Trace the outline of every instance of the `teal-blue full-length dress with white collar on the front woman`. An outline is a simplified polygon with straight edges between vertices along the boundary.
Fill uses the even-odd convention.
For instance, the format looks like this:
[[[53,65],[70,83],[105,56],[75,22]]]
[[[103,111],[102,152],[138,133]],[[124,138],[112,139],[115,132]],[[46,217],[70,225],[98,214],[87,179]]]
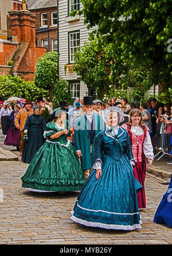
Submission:
[[[118,135],[101,131],[95,139],[95,162],[102,166],[100,179],[94,169],[85,181],[71,212],[71,220],[90,227],[135,230],[142,221],[137,192],[142,185],[133,174],[133,155],[128,133],[119,128]]]

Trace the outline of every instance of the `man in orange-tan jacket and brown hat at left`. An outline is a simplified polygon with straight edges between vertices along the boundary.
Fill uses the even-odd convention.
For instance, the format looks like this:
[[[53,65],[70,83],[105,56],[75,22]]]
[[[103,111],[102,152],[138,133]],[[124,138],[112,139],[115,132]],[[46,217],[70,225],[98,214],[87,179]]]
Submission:
[[[30,114],[33,114],[32,101],[26,100],[24,103],[24,108],[19,110],[14,120],[15,126],[20,131],[20,155],[22,155],[22,152],[25,146],[25,142],[23,140],[25,135],[24,126],[25,126],[26,119],[28,118],[28,116],[30,116]]]

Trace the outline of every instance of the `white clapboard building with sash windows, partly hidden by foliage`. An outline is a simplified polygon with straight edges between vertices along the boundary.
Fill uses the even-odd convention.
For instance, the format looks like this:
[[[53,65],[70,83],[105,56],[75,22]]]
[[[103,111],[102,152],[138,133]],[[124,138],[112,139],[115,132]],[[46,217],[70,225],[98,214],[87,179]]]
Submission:
[[[87,86],[73,71],[73,54],[79,45],[82,47],[88,41],[88,33],[93,29],[88,30],[84,25],[83,15],[69,16],[72,10],[81,10],[82,7],[79,0],[58,0],[59,75],[68,80],[73,98],[83,98],[88,93]]]

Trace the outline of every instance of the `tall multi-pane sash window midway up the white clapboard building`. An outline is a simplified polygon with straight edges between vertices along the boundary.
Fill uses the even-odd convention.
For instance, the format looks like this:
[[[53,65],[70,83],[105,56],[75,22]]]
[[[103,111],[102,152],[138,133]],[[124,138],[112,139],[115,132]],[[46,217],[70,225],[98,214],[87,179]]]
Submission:
[[[74,62],[74,55],[77,53],[80,44],[80,32],[69,32],[69,63]]]

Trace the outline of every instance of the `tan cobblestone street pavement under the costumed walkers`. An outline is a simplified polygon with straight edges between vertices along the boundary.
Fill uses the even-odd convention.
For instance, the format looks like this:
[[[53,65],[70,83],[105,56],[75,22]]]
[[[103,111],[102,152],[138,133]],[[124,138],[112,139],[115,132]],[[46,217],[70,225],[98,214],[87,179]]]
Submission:
[[[21,188],[27,167],[18,161],[0,162],[0,244],[172,244],[171,228],[153,222],[169,180],[147,173],[142,229],[103,230],[70,220],[78,192],[35,193]]]

